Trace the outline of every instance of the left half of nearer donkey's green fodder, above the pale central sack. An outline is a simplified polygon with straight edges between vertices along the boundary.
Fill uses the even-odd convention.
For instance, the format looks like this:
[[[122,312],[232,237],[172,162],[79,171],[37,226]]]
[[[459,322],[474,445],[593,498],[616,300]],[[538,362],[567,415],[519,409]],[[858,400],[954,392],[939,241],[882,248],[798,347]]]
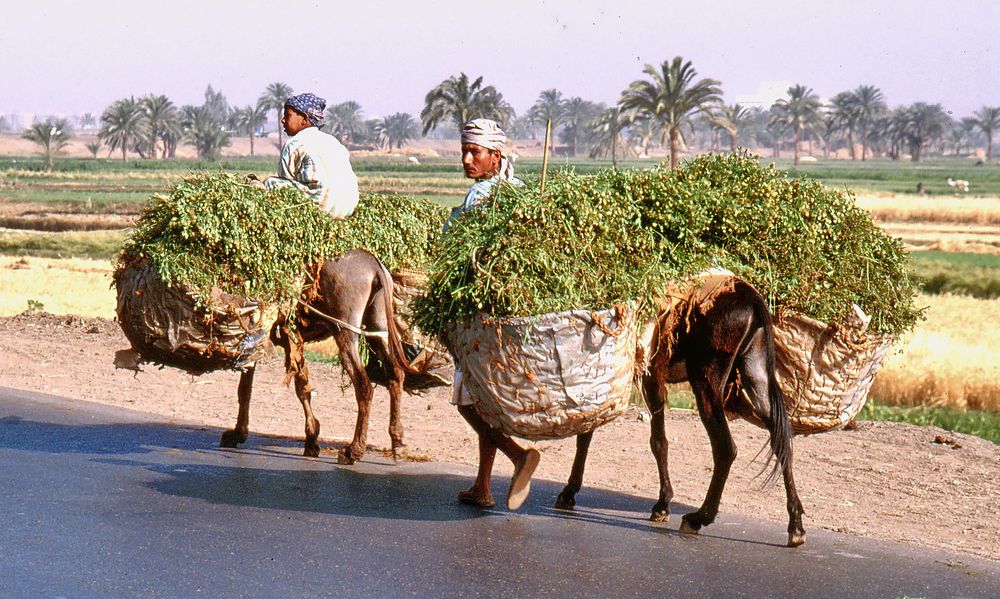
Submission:
[[[417,326],[440,336],[484,311],[530,316],[643,303],[663,281],[708,264],[662,260],[689,256],[691,248],[643,227],[640,206],[629,200],[624,183],[614,171],[562,171],[544,194],[537,186],[499,185],[486,207],[452,222],[427,293],[414,305]]]

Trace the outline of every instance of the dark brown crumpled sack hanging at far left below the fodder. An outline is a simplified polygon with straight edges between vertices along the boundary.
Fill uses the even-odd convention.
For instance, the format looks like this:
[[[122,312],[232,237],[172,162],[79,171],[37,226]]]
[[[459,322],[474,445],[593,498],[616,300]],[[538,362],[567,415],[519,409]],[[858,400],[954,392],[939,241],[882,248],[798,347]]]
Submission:
[[[273,353],[268,331],[277,310],[216,290],[212,308],[195,308],[183,287],[164,283],[146,261],[115,273],[118,324],[143,360],[193,374],[240,369]]]

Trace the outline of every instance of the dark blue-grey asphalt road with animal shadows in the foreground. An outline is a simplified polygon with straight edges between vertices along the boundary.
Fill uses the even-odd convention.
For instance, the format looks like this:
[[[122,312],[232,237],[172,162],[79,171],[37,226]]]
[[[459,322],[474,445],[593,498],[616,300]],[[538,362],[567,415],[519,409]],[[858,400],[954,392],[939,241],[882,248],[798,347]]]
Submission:
[[[301,441],[0,388],[0,597],[998,597],[1000,564],[729,514],[697,537],[652,498],[535,481],[458,505],[474,472],[302,458]],[[506,481],[494,493],[505,497]],[[501,502],[502,503],[502,502]],[[677,513],[687,506],[677,506]]]

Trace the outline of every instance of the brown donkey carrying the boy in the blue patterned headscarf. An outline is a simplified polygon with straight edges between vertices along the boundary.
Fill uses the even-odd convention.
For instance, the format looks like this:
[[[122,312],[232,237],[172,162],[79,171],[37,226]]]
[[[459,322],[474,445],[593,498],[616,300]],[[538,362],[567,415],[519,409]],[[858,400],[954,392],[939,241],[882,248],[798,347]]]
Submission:
[[[358,331],[381,332],[368,336],[368,345],[388,371],[389,436],[393,456],[405,452],[400,400],[406,373],[415,374],[403,353],[399,323],[392,305],[392,277],[372,254],[355,250],[327,260],[320,267],[315,294],[307,304],[300,305],[294,333],[289,324],[279,320],[271,328],[271,341],[285,352],[286,383],[295,380],[295,394],[302,402],[306,417],[304,454],[319,455],[319,420],[313,415],[313,388],[309,383],[309,366],[304,357],[304,344],[333,337],[340,352],[340,363],[354,386],[358,402],[358,420],[351,444],[340,450],[339,461],[352,464],[365,453],[368,437],[368,413],[371,407],[372,383],[358,355]],[[236,447],[247,440],[250,420],[250,395],[253,388],[254,366],[240,376],[239,414],[236,426],[222,433],[222,447]]]

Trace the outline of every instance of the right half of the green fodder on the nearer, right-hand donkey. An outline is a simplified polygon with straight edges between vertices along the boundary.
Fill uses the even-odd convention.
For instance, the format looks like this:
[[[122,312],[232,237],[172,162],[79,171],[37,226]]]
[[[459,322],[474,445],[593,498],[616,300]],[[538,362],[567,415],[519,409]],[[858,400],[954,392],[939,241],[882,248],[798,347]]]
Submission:
[[[921,318],[902,242],[872,222],[852,194],[789,178],[749,154],[708,154],[676,171],[645,176],[709,190],[709,219],[697,237],[720,266],[757,287],[772,311],[843,323],[857,304],[872,317],[869,330],[888,335]],[[655,183],[633,189],[650,186]],[[672,218],[656,209],[644,212],[654,227]]]

